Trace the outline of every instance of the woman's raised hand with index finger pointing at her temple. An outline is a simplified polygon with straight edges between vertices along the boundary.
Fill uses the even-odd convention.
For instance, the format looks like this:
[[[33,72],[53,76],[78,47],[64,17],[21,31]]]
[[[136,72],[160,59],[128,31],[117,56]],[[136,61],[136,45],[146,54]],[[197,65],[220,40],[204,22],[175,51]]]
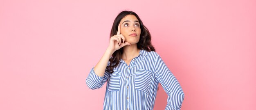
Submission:
[[[108,50],[114,53],[116,50],[119,50],[121,47],[126,45],[131,45],[130,43],[126,42],[125,37],[121,34],[120,24],[118,24],[117,35],[110,37]]]

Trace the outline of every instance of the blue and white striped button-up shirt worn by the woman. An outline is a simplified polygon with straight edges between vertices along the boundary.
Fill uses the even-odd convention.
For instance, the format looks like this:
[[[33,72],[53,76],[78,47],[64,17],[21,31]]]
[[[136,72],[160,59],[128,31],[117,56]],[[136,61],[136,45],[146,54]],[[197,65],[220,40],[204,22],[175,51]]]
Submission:
[[[103,110],[153,110],[159,83],[168,95],[165,110],[180,110],[182,88],[156,52],[140,50],[130,65],[121,59],[113,70],[100,77],[92,68],[86,78],[90,89],[101,88],[108,81]]]

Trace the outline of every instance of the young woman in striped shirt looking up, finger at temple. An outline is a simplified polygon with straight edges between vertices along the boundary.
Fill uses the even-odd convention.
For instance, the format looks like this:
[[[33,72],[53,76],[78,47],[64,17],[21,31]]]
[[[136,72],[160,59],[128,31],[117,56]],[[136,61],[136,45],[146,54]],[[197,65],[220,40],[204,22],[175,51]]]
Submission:
[[[158,84],[168,94],[166,110],[180,110],[184,93],[151,44],[139,16],[122,11],[113,23],[110,42],[86,84],[101,88],[108,81],[103,110],[153,110]]]

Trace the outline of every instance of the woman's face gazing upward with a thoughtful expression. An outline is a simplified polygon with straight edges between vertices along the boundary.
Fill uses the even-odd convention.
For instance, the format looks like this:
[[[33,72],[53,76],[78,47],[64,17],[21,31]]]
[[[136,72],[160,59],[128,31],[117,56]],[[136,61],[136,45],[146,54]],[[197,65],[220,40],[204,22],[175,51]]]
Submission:
[[[121,34],[125,37],[125,41],[130,44],[136,44],[139,42],[139,37],[141,33],[139,20],[135,15],[127,15],[121,19]]]

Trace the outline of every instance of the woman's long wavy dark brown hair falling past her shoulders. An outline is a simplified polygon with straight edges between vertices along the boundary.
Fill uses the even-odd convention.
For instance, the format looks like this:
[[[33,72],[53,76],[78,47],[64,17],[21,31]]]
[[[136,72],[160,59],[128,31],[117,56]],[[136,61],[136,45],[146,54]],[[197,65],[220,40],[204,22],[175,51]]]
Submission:
[[[126,15],[135,15],[135,17],[137,17],[137,19],[139,20],[141,34],[139,37],[139,42],[137,43],[137,48],[140,50],[146,50],[148,52],[155,51],[155,47],[153,47],[153,45],[151,44],[151,35],[150,35],[148,29],[146,28],[146,26],[144,26],[141,19],[139,19],[139,16],[136,13],[134,13],[133,11],[122,11],[121,13],[119,13],[117,15],[117,17],[114,20],[113,26],[111,28],[110,37],[117,35],[118,25],[119,25],[121,19],[126,17]],[[107,68],[106,68],[106,70],[108,72],[110,72],[110,73],[114,72],[113,68],[119,64],[119,60],[121,59],[121,54],[123,54],[123,52],[124,52],[124,49],[121,48],[119,50],[116,50],[112,54],[112,57],[109,59],[110,65],[107,66]]]

